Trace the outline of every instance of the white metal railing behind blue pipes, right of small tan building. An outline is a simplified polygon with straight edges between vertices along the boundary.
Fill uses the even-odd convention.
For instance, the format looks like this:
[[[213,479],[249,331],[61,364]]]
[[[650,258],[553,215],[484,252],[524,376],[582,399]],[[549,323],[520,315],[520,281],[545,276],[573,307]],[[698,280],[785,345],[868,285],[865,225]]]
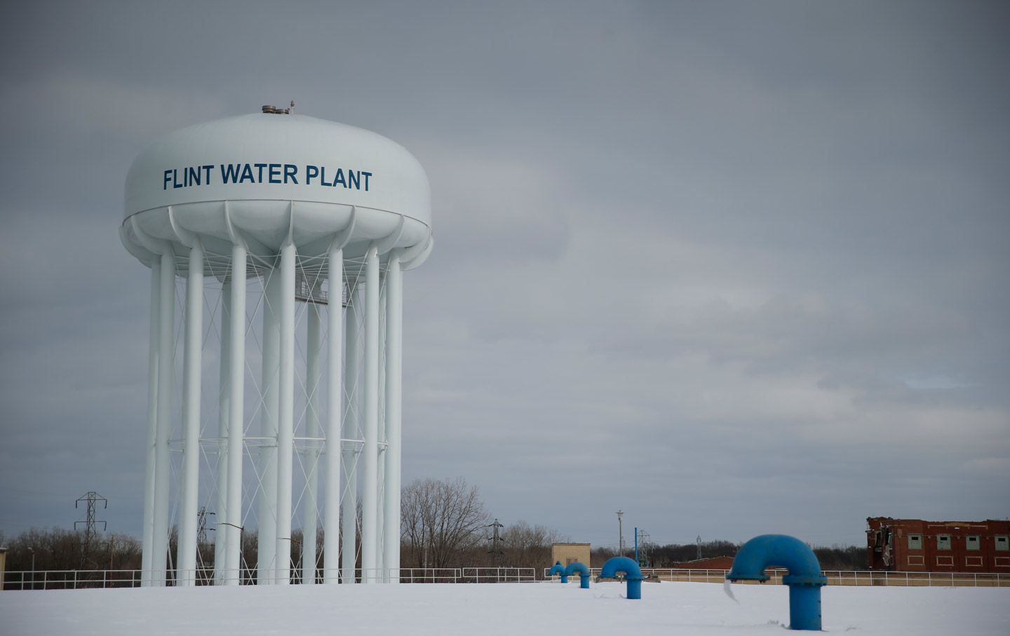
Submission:
[[[544,578],[550,578],[549,567],[543,568]],[[646,577],[659,580],[685,582],[718,582],[726,579],[728,569],[678,569],[670,567],[642,567],[641,573]],[[600,568],[590,569],[594,576],[600,574]],[[782,569],[769,569],[769,584],[779,585],[788,572]],[[824,570],[829,586],[899,586],[947,588],[1010,588],[1010,572],[889,572],[889,571],[855,571],[855,570]],[[739,581],[742,585],[756,585],[758,581]]]

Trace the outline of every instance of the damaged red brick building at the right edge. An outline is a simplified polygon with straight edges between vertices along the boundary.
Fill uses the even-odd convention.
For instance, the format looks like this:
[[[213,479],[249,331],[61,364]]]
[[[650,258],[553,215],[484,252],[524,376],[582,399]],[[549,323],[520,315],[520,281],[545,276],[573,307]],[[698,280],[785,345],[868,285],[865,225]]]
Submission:
[[[870,569],[1010,573],[1010,521],[867,519]]]

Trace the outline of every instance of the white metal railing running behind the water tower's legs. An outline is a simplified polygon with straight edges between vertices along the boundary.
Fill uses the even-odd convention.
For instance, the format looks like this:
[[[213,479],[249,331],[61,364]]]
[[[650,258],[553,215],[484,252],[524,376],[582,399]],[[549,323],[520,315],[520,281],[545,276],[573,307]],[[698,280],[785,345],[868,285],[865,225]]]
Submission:
[[[177,585],[177,570],[168,571],[169,586]],[[536,579],[535,567],[401,567],[396,569],[358,569],[355,572],[356,582],[388,582],[399,573],[400,582],[532,582]],[[36,571],[8,571],[0,580],[2,590],[84,590],[92,588],[139,588],[142,572],[139,569],[65,569]],[[338,571],[332,572],[333,577],[340,579]],[[321,584],[328,575],[323,569],[316,571],[315,582]],[[238,577],[239,585],[257,585],[256,570],[243,569],[226,578],[234,581]],[[195,585],[213,585],[213,571],[200,569],[195,572]],[[280,578],[270,578],[270,582],[279,582]],[[292,572],[288,582],[301,585],[301,572]]]

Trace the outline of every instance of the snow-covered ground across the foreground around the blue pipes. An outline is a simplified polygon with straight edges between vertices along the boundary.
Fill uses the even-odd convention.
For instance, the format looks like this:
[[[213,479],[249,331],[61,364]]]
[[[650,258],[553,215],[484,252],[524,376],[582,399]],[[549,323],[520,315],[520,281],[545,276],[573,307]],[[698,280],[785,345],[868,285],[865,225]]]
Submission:
[[[574,582],[0,592],[0,634],[778,634],[784,586]],[[827,632],[1010,634],[1010,588],[822,590]]]

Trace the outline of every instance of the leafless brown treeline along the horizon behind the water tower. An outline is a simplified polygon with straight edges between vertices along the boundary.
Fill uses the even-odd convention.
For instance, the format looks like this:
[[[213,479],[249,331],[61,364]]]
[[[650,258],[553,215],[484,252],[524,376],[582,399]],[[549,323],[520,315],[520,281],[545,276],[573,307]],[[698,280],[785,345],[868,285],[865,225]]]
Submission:
[[[498,523],[485,508],[476,486],[463,479],[415,480],[401,492],[401,568],[457,567],[531,567],[537,578],[551,563],[551,544],[570,542],[571,537],[553,528],[519,520],[511,525]],[[359,532],[361,510],[359,509]],[[292,568],[302,568],[303,533],[292,532]],[[89,540],[86,540],[89,539]],[[241,539],[243,578],[255,578],[258,561],[258,533],[245,531]],[[317,566],[323,562],[325,535],[316,534]],[[173,528],[169,537],[169,568],[174,567],[178,532]],[[361,546],[361,537],[356,541]],[[140,542],[134,537],[118,534],[98,534],[86,537],[84,532],[53,528],[28,530],[5,541],[0,533],[0,546],[8,548],[7,570],[82,570],[139,569]],[[739,545],[729,541],[707,541],[700,546],[701,558],[735,556]],[[813,547],[825,570],[866,569],[867,551],[860,546]],[[205,576],[213,569],[214,541],[210,534],[197,547],[197,566]],[[359,547],[360,552],[360,547]],[[673,563],[697,558],[697,543],[648,543],[639,546],[639,557],[652,567],[669,567]],[[591,567],[600,567],[617,550],[598,547],[591,553]],[[361,567],[361,554],[358,554]],[[296,578],[298,574],[295,574]]]

